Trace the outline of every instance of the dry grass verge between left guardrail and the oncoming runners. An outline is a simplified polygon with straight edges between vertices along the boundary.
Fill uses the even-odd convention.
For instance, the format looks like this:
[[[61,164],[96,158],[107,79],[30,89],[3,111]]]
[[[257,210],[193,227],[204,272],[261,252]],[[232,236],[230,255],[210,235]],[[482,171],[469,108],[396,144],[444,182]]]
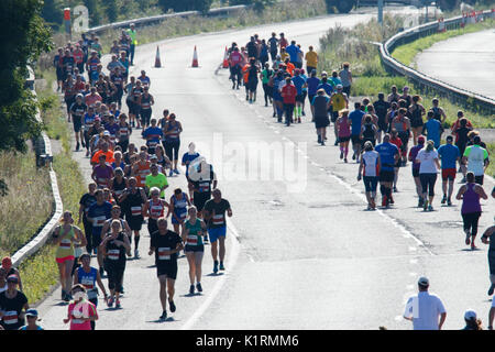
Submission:
[[[79,197],[86,187],[79,166],[72,158],[70,131],[66,123],[64,108],[59,103],[58,97],[52,91],[54,77],[52,72],[44,74],[47,86],[37,91],[37,95],[48,136],[62,142],[61,153],[54,155],[53,168],[57,174],[64,210],[70,210],[76,217],[79,209]],[[20,266],[25,295],[31,305],[42,299],[51,290],[51,287],[58,283],[55,251],[56,246],[48,240],[45,246]]]

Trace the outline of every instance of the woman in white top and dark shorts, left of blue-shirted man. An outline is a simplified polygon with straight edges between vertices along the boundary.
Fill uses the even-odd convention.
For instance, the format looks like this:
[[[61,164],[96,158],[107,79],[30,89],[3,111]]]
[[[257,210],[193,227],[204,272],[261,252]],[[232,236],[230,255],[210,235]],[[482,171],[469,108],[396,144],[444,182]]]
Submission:
[[[376,187],[378,185],[378,175],[381,168],[380,154],[373,150],[370,141],[364,142],[364,153],[361,157],[358,180],[361,180],[363,172],[364,188],[366,191],[367,210],[376,210]]]

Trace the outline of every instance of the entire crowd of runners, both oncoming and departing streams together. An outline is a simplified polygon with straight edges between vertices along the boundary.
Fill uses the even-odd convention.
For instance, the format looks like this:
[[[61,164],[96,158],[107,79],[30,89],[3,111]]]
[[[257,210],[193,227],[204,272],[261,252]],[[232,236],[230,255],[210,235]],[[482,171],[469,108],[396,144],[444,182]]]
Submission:
[[[168,189],[168,178],[180,175],[183,125],[168,110],[160,119],[154,117],[150,77],[144,70],[138,77],[130,75],[135,44],[136,34],[131,26],[113,41],[111,61],[105,67],[101,44],[95,34],[89,38],[82,35],[77,43],[58,48],[54,58],[57,86],[65,98],[68,122],[74,125],[75,150],[86,148],[94,180],[80,198],[77,218],[65,211],[53,233],[61,299],[68,302],[64,322],[70,323],[73,330],[95,329],[101,296],[108,307],[122,308],[123,286],[128,285],[127,261],[141,257],[139,245],[144,223],[151,237],[147,254],[155,256],[160,280],[161,320],[167,318],[167,302],[170,312],[176,310],[175,280],[182,252],[189,266],[191,295],[202,292],[205,245],[211,245],[212,272],[226,270],[226,217],[232,217],[231,206],[217,188],[212,165],[199,155],[194,142],[188,144],[188,152],[180,161],[187,189]],[[327,128],[333,124],[334,145],[339,146],[343,163],[349,163],[352,143],[352,161],[358,164],[358,180],[364,183],[369,210],[377,208],[378,184],[382,207],[395,202],[393,195],[398,191],[399,170],[408,162],[418,207],[425,211],[433,210],[437,174],[441,173],[442,178],[441,204],[451,206],[454,179],[462,173],[463,185],[457,190],[455,199],[462,201],[465,244],[475,249],[482,213],[480,199],[488,198],[483,182],[490,157],[480,133],[462,111],[448,127],[438,99],[425,107],[421,97],[411,95],[408,87],[403,87],[399,94],[395,86],[387,95],[378,94],[376,101],[354,98],[351,102],[350,64],[342,64],[331,74],[323,70],[318,76],[318,54],[314,47],[309,46],[305,54],[284,33],[278,37],[273,33],[268,40],[253,35],[241,47],[232,43],[228,62],[232,89],[243,86],[246,101],[253,103],[261,80],[265,107],[273,107],[277,122],[287,127],[315,123],[317,142],[321,145],[329,140]],[[123,112],[124,97],[128,113]],[[131,142],[135,133],[141,134],[142,145]],[[444,143],[442,135],[446,135]],[[492,196],[495,197],[495,189]],[[495,241],[488,240],[494,231],[492,227],[482,237],[483,243],[490,243],[488,295],[495,288]],[[1,327],[41,329],[36,324],[37,311],[29,309],[20,274],[9,261],[4,258],[0,268]],[[427,293],[428,286],[427,278],[419,279],[421,293]],[[436,297],[428,297],[435,301],[436,314],[442,316],[441,328],[443,306]],[[410,302],[405,312],[407,319],[409,308]],[[490,312],[490,326],[494,316],[495,304]],[[466,312],[465,317],[468,326],[480,326],[474,312]]]

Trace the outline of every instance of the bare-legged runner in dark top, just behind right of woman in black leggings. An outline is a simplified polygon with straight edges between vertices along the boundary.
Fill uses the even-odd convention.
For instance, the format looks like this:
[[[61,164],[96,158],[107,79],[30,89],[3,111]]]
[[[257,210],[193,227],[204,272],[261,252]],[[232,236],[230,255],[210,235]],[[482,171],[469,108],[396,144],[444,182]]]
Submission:
[[[129,227],[134,232],[134,257],[140,257],[139,244],[140,244],[140,231],[143,226],[143,205],[147,198],[144,189],[138,186],[138,182],[134,177],[129,178],[129,188],[127,188],[119,201],[125,213],[125,220]],[[131,240],[131,239],[130,239]],[[132,242],[132,241],[131,241]]]

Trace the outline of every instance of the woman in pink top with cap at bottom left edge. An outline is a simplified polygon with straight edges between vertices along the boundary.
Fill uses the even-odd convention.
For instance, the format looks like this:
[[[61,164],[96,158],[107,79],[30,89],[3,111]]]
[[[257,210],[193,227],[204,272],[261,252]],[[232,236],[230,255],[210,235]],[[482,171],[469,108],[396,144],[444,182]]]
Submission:
[[[68,305],[67,318],[64,323],[70,321],[70,330],[91,330],[91,321],[98,320],[96,306],[86,296],[86,288],[74,285],[70,294],[74,300]]]

